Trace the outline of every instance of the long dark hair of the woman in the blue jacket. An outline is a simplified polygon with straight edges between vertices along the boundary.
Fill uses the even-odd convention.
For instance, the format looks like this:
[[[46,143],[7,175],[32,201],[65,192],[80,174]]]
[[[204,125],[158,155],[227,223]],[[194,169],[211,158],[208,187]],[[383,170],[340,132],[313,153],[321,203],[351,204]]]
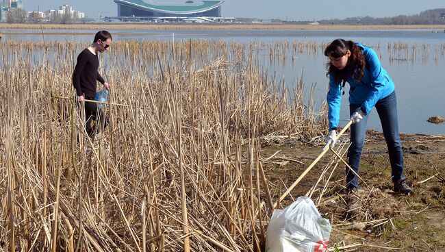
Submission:
[[[364,69],[366,66],[366,60],[363,53],[361,53],[360,48],[355,45],[355,42],[351,40],[343,40],[338,38],[333,40],[331,44],[329,44],[325,49],[325,56],[332,58],[340,58],[345,55],[347,52],[351,51],[351,56],[348,58],[348,63],[346,63],[346,67],[342,70],[336,68],[329,61],[326,64],[326,76],[333,73],[335,76],[335,81],[346,80],[348,77],[348,73],[353,71],[353,78],[357,81],[361,81],[364,75]]]

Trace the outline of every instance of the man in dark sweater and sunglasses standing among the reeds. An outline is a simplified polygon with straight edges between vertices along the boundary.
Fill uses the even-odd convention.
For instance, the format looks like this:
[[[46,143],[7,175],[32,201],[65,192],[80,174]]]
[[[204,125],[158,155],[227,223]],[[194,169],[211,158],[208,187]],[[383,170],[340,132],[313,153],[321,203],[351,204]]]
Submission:
[[[97,54],[107,51],[112,44],[112,40],[110,32],[99,31],[96,36],[94,36],[92,45],[84,49],[84,51],[77,56],[77,64],[73,73],[73,85],[79,103],[84,100],[94,100],[97,81],[103,84],[107,90],[110,90],[110,84],[105,82],[97,71],[99,68],[99,58]],[[97,120],[97,117],[99,117],[99,120]],[[103,124],[104,128],[107,126],[105,112],[98,108],[97,103],[85,103],[85,120],[86,131],[92,140],[94,140],[94,136],[97,134],[97,130],[99,130],[98,127],[92,129],[92,120],[96,121],[96,125]]]

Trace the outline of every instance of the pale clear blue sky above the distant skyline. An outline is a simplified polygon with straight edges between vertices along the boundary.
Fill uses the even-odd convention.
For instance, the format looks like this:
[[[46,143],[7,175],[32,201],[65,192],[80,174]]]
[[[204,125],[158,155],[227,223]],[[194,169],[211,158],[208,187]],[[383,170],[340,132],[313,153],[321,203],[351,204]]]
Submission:
[[[3,1],[3,0],[0,0]],[[144,0],[149,1],[149,0]],[[186,0],[151,0],[151,3],[185,2]],[[46,11],[68,4],[85,12],[86,16],[96,18],[116,16],[117,5],[113,0],[22,0],[27,11]],[[288,18],[289,21],[316,21],[351,16],[385,17],[399,14],[419,14],[423,10],[445,8],[445,0],[225,0],[223,16],[251,18]]]

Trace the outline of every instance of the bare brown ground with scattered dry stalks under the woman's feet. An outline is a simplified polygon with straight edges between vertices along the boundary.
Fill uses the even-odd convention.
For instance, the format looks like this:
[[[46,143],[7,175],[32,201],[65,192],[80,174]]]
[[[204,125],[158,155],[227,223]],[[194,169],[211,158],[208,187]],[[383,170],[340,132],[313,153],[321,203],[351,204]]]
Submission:
[[[357,211],[346,211],[344,164],[335,169],[321,198],[320,191],[327,179],[322,179],[312,194],[320,214],[329,218],[333,226],[331,246],[355,244],[347,251],[445,251],[445,136],[403,135],[402,139],[405,175],[414,194],[392,191],[386,144],[376,131],[368,131],[361,156],[360,176],[364,181],[360,182]],[[263,148],[264,158],[279,151],[265,167],[266,177],[275,185],[270,188],[275,199],[315,160],[322,148],[319,144],[277,140],[265,145],[268,146]],[[327,153],[312,168],[292,196],[281,203],[282,207],[316,184],[330,157],[331,153]]]

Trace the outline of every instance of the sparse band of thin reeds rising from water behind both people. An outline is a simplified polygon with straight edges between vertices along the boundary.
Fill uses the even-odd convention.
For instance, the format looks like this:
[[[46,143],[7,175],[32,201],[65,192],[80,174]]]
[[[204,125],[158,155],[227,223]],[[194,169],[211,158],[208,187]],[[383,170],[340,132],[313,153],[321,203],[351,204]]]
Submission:
[[[17,53],[22,53],[23,57],[31,58],[33,63],[44,63],[42,51],[47,51],[51,64],[57,60],[70,60],[74,64],[75,56],[73,52],[79,51],[89,45],[90,42],[74,42],[74,41],[49,41],[42,40],[20,42],[16,40],[3,40],[2,45],[10,48]],[[114,45],[114,55],[120,58],[119,64],[127,64],[126,60],[131,60],[132,65],[136,61],[149,61],[150,70],[157,64],[157,55],[161,60],[172,60],[172,43],[162,40],[125,40],[116,41]],[[316,60],[317,58],[325,59],[323,52],[329,45],[329,42],[311,42],[311,41],[290,41],[277,40],[275,42],[249,42],[248,44],[240,42],[224,42],[221,40],[193,40],[192,63],[195,68],[202,65],[202,62],[209,62],[215,58],[226,58],[231,62],[244,62],[252,57],[260,66],[264,66],[264,62],[277,67],[286,64],[294,64],[298,60],[303,60],[303,56],[308,60]],[[381,44],[367,45],[372,47],[379,55],[381,60],[387,59],[390,64],[406,64],[419,62],[426,64],[430,59],[435,64],[444,59],[445,44],[424,45],[424,44],[407,44],[402,42],[390,42],[386,47]],[[177,43],[176,51],[186,50],[184,43]],[[155,51],[156,53],[153,53]],[[62,52],[66,52],[66,55]],[[181,56],[178,53],[177,57]],[[12,53],[5,55],[5,60],[16,57]],[[186,55],[182,55],[182,58]],[[266,69],[262,69],[266,73]]]

